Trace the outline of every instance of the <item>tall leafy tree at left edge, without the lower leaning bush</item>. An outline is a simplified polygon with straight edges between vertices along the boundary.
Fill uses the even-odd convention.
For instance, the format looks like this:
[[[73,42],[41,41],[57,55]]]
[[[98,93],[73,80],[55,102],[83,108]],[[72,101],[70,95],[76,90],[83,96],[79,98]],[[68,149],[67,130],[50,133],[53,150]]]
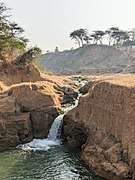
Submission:
[[[0,59],[5,61],[6,55],[24,51],[28,39],[22,37],[24,30],[15,22],[10,22],[8,11],[4,3],[0,3]]]

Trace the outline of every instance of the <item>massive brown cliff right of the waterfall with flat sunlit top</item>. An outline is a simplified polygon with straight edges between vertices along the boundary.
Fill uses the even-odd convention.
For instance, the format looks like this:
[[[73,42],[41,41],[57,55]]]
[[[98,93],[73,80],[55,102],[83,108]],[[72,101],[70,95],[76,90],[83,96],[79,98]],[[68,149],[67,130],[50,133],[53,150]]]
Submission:
[[[103,78],[90,82],[64,118],[69,145],[81,147],[88,166],[107,179],[135,179],[134,98],[135,76]]]

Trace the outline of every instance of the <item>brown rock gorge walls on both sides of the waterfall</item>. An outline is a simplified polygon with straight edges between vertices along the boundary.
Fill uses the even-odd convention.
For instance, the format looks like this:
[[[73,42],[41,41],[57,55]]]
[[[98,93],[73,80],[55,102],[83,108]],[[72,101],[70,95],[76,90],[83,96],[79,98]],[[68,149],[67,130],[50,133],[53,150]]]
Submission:
[[[78,106],[64,116],[62,133],[97,175],[134,180],[135,76],[88,79]],[[33,65],[1,67],[0,151],[46,138],[62,104],[77,96],[78,86],[68,77],[42,74]]]

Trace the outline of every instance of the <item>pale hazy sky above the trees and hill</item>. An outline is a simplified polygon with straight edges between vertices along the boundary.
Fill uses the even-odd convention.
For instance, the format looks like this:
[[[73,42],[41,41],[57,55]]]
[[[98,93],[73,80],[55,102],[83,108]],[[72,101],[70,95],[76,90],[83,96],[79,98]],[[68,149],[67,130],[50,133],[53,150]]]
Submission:
[[[135,0],[1,0],[12,9],[12,20],[25,30],[30,45],[42,50],[75,47],[69,38],[78,28],[135,28]]]

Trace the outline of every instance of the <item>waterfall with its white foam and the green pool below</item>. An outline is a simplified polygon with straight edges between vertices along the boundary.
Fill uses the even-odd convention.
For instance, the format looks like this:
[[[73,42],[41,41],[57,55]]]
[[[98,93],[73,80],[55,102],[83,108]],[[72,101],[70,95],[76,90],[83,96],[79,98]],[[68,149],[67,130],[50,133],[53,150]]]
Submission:
[[[76,107],[64,108],[64,114]],[[15,150],[0,153],[0,180],[100,180],[78,153],[60,139],[64,114],[53,122],[46,139],[34,139]]]

